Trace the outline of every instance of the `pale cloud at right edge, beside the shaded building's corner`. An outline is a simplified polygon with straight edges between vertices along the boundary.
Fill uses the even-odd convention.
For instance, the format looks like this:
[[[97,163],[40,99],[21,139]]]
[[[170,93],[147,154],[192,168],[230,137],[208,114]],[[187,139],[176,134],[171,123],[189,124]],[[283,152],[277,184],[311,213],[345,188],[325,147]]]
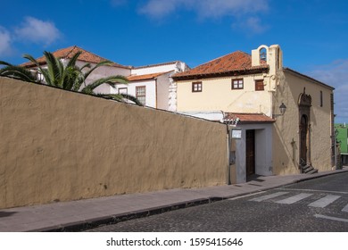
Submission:
[[[336,121],[348,122],[348,59],[319,65],[316,70],[307,74],[336,88],[334,92]]]

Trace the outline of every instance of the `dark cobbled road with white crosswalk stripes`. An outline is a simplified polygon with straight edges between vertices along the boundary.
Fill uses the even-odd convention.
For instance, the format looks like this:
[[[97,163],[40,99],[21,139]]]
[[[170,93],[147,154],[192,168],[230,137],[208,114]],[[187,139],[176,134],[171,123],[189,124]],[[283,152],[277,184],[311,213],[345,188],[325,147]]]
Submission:
[[[348,173],[88,231],[348,232]]]

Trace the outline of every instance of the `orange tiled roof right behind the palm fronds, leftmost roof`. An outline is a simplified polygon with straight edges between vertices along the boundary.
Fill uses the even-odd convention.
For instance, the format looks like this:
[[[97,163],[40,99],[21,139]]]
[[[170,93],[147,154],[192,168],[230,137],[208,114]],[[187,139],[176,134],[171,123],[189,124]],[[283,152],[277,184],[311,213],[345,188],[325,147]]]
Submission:
[[[86,63],[100,63],[103,61],[110,61],[110,60],[107,60],[99,55],[90,53],[87,50],[80,48],[79,46],[70,46],[67,48],[62,48],[62,49],[55,51],[53,54],[55,57],[70,59],[74,54],[78,53],[79,51],[82,52],[79,55],[79,61],[83,61]],[[45,56],[41,56],[41,57],[37,58],[37,62],[40,64],[45,64],[46,63]],[[127,66],[123,66],[123,65],[120,65],[118,63],[113,63],[112,65],[122,67],[122,68],[128,68]],[[28,62],[28,63],[22,63],[21,66],[30,68],[30,67],[35,66],[35,64]]]

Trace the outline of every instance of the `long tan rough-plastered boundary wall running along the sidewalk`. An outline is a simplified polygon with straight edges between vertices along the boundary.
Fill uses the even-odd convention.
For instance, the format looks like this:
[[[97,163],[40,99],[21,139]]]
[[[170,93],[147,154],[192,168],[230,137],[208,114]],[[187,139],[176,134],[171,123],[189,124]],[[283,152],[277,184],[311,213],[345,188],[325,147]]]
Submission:
[[[226,126],[0,78],[0,208],[227,179]]]

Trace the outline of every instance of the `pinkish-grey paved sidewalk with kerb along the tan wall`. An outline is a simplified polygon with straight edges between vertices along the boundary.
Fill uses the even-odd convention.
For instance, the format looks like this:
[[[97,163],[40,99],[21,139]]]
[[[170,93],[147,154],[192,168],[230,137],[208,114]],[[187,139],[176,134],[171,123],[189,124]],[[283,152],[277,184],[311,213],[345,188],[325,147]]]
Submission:
[[[243,184],[190,189],[170,189],[145,194],[107,196],[73,202],[0,210],[0,231],[79,231],[102,224],[167,212],[195,204],[244,196],[305,179],[348,171],[259,177]]]

